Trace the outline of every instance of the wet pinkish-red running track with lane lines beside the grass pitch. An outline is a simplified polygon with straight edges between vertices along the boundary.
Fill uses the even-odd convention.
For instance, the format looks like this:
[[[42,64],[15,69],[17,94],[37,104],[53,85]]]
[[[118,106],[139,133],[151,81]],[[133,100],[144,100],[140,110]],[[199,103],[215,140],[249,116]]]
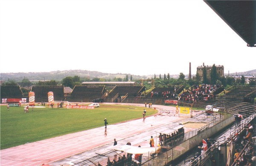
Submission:
[[[136,104],[143,106],[144,104]],[[155,105],[159,108],[167,106]],[[175,111],[175,107],[168,107],[168,110]],[[186,117],[183,117],[186,118]],[[171,116],[151,116],[145,121],[137,119],[120,124],[113,124],[107,127],[108,135],[105,135],[105,126],[76,132],[64,136],[50,138],[43,141],[27,143],[24,145],[3,149],[0,151],[1,166],[40,166],[67,158],[87,150],[103,146],[113,142],[113,138],[118,140],[128,138],[132,135],[145,132],[146,130],[160,127],[175,121],[180,121],[182,117]],[[104,124],[102,124],[104,125]],[[120,132],[121,131],[121,132]],[[97,139],[95,139],[97,138]],[[149,138],[148,138],[149,139]]]

